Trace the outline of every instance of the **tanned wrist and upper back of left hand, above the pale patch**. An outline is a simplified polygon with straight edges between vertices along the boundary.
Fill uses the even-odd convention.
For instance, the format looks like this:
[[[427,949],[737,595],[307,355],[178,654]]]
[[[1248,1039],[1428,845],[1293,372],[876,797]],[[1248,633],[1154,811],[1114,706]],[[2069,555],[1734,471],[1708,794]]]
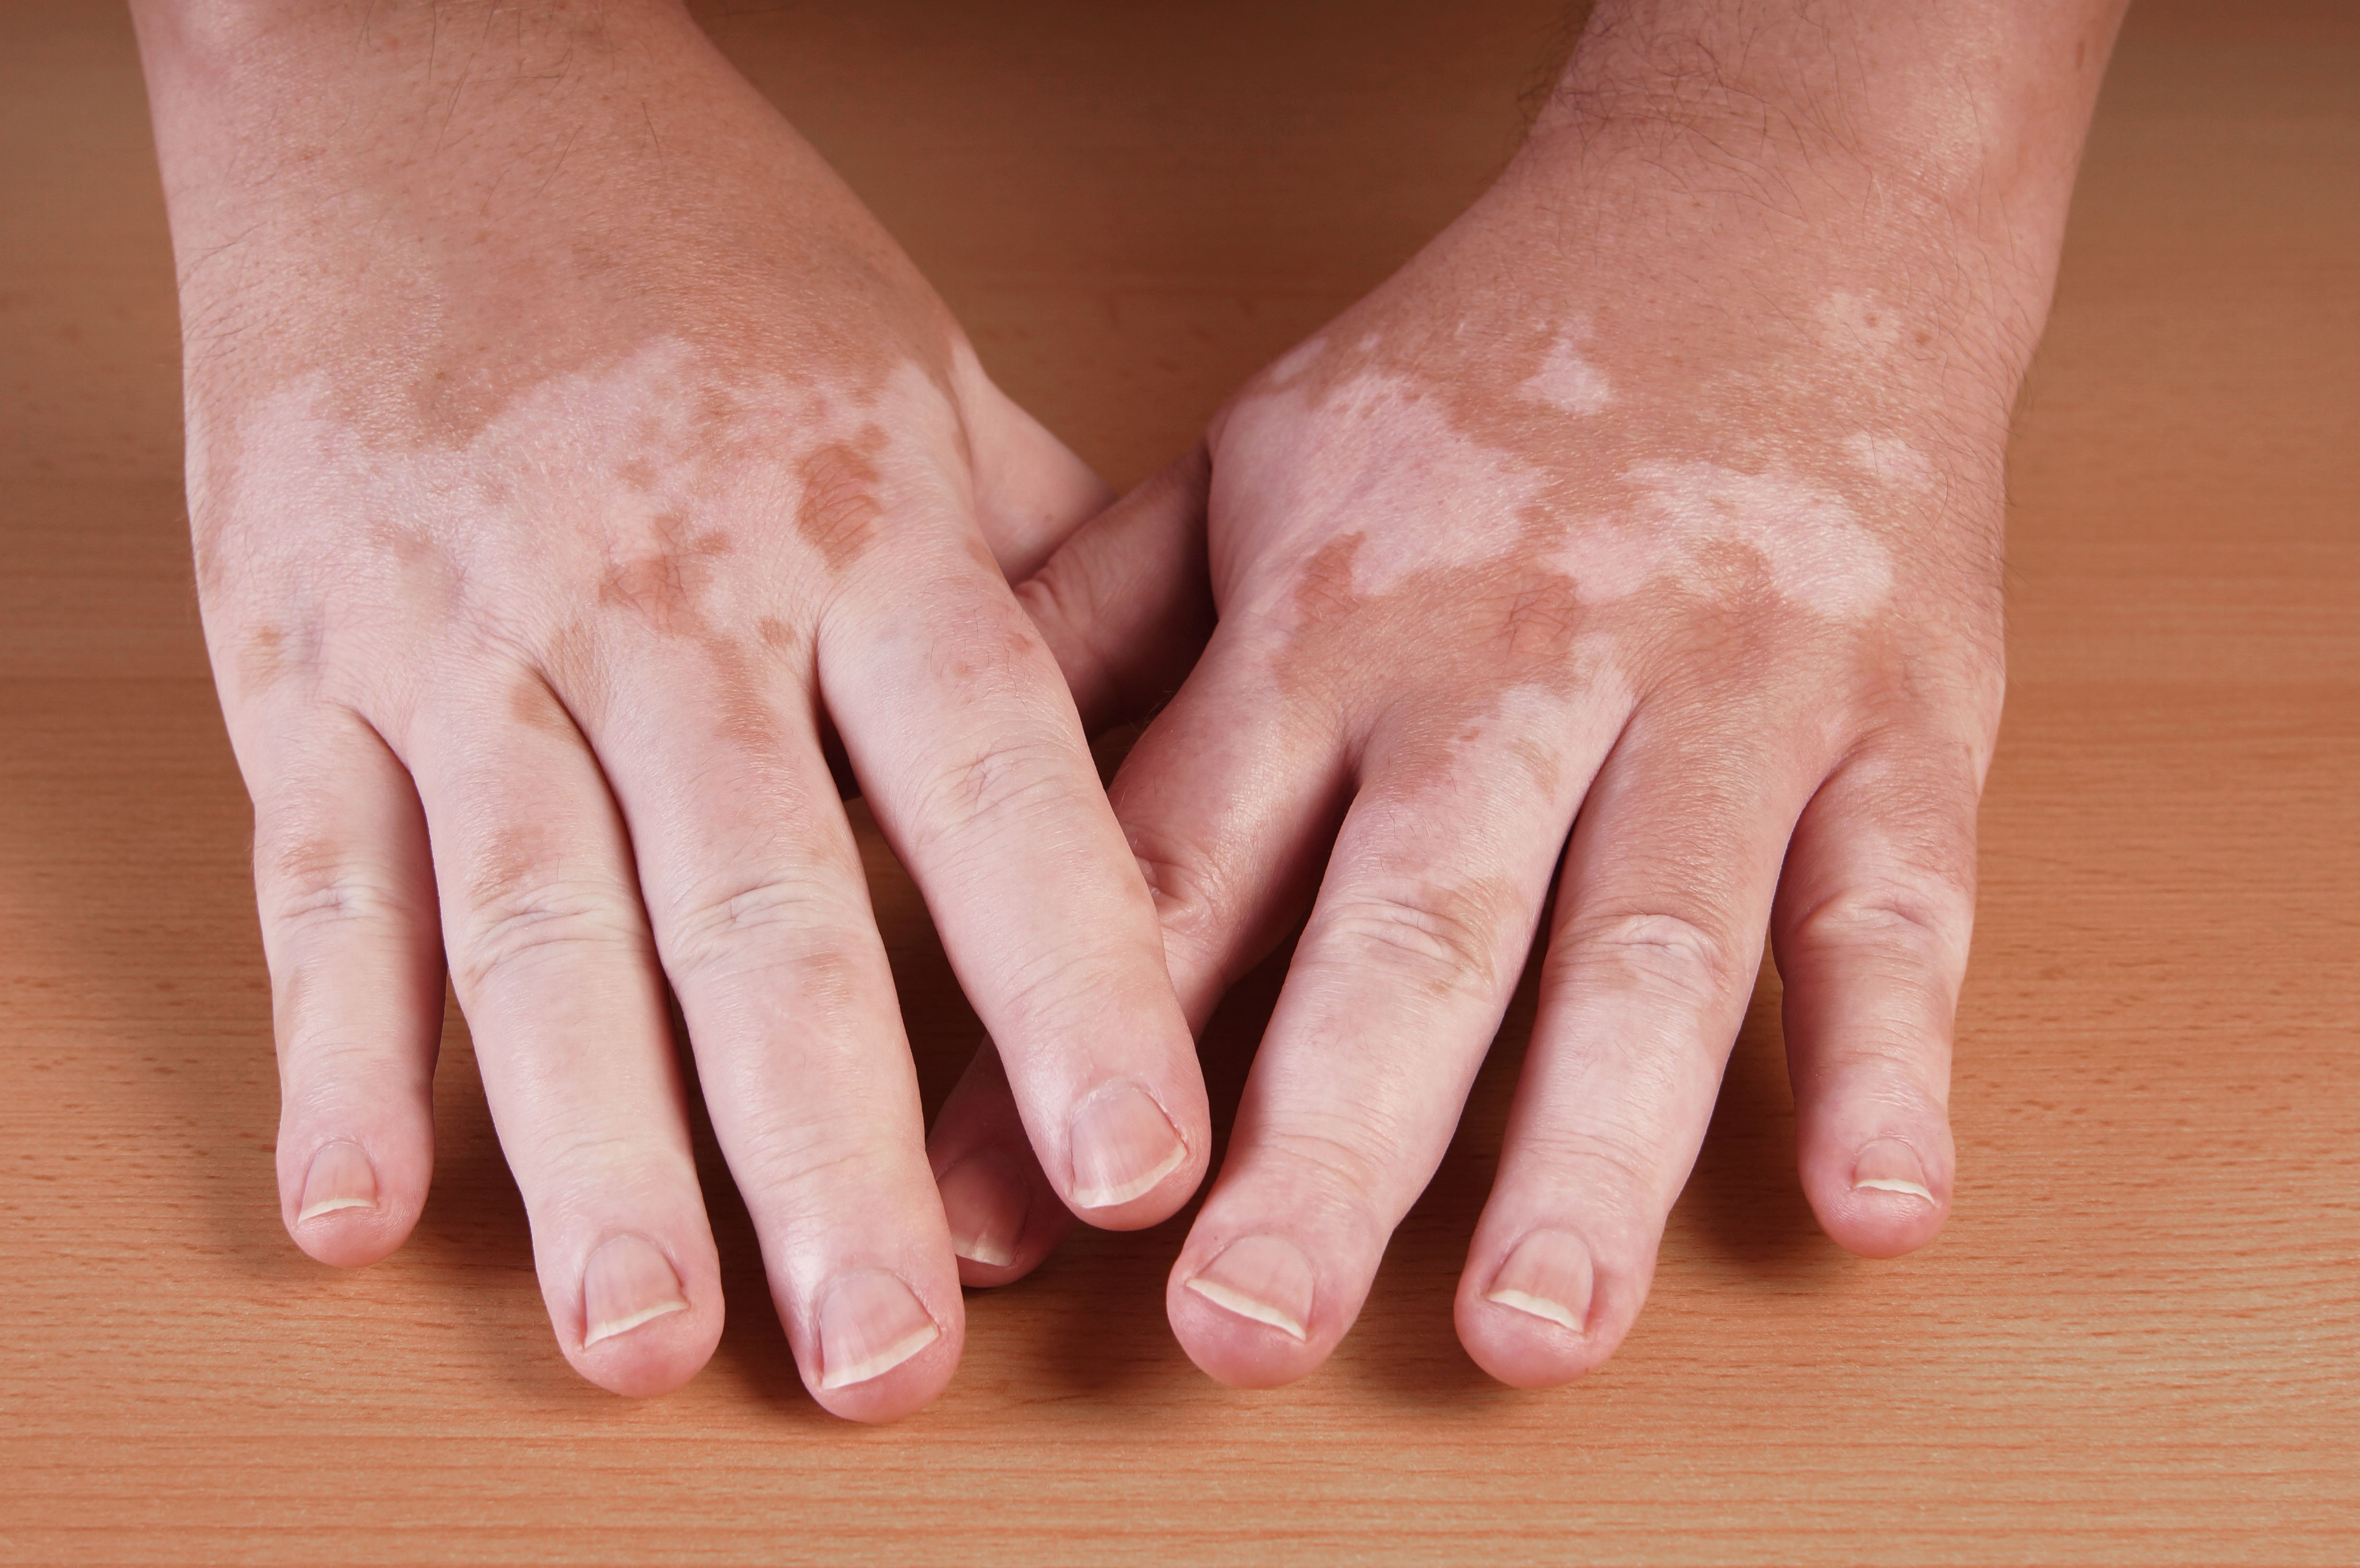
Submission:
[[[139,0],[135,17],[194,420],[198,383],[255,359],[274,378],[368,366],[477,406],[654,338],[741,338],[776,316],[772,288],[845,274],[925,298],[673,0]],[[706,305],[682,309],[689,293]]]

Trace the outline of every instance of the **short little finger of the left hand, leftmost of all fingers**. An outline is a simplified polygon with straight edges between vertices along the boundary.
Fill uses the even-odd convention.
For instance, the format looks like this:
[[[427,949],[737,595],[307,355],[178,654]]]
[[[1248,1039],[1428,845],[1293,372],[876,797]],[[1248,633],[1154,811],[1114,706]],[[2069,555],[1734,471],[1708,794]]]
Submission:
[[[255,789],[278,1032],[278,1207],[323,1263],[375,1263],[434,1171],[444,963],[418,791],[378,732],[312,711]]]

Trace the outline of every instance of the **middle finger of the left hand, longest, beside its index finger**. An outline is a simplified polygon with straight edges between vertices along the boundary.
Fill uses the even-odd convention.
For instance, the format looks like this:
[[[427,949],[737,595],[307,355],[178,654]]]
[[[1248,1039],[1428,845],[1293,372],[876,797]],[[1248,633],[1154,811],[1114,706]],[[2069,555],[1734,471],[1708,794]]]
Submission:
[[[880,1422],[958,1365],[958,1270],[807,659],[649,640],[595,730],[640,852],[713,1131],[805,1386]]]

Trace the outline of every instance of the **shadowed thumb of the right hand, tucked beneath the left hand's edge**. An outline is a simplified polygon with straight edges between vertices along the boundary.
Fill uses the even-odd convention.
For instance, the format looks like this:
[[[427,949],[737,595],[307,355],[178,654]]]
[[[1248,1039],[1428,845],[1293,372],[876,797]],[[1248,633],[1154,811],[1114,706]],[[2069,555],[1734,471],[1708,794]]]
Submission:
[[[1213,635],[1211,482],[1197,442],[1017,583],[1090,734],[1161,706]]]

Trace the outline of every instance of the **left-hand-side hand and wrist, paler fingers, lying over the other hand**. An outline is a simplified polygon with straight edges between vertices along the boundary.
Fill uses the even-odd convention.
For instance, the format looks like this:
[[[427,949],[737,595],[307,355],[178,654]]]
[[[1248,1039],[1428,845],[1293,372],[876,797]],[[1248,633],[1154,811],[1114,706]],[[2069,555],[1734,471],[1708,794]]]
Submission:
[[[843,737],[1102,1226],[1201,1178],[1154,904],[1008,588],[1097,479],[668,5],[139,12],[288,1230],[418,1219],[444,956],[590,1379],[722,1322],[677,994],[805,1381],[925,1403],[951,1237]]]

